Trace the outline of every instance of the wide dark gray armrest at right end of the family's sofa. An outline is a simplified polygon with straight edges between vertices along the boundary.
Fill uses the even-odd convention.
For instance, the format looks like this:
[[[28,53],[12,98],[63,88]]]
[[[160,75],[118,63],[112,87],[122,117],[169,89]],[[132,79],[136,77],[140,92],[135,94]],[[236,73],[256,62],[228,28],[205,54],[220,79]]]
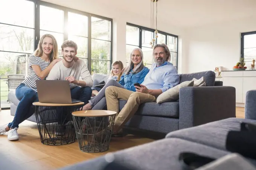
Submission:
[[[184,87],[179,102],[179,129],[236,117],[234,87]]]

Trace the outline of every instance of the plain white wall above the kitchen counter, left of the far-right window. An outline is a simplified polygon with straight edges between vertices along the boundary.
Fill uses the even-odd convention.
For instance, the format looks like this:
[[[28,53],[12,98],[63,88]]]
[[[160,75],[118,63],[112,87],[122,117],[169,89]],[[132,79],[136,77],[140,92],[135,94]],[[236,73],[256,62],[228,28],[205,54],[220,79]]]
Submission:
[[[253,16],[187,29],[183,35],[183,73],[214,70],[217,66],[232,70],[241,54],[241,33],[255,31],[255,21]]]

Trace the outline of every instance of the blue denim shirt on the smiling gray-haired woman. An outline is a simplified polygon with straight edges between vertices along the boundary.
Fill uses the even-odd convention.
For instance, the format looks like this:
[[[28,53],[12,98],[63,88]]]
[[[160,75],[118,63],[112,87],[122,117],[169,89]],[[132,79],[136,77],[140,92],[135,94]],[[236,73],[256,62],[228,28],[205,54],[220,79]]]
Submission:
[[[131,69],[130,73],[127,75],[125,73],[123,73],[119,83],[123,87],[125,87],[127,90],[136,91],[136,88],[134,87],[134,83],[141,84],[144,81],[146,74],[148,74],[149,69],[148,69],[148,67],[144,66],[139,73],[133,74],[132,72],[133,72],[133,69]]]

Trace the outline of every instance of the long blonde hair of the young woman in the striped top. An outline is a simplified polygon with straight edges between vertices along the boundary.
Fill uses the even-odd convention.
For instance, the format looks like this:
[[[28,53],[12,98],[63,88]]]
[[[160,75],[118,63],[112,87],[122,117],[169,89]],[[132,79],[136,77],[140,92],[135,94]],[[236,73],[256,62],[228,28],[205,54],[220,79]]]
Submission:
[[[57,41],[56,41],[55,37],[53,35],[51,35],[51,34],[44,34],[43,36],[41,36],[41,38],[39,40],[39,43],[38,43],[38,46],[37,46],[37,49],[34,52],[34,55],[38,56],[38,57],[41,57],[43,55],[42,44],[43,44],[43,39],[46,38],[46,37],[50,37],[53,40],[53,50],[52,50],[52,53],[51,53],[51,56],[50,56],[50,62],[52,62],[53,60],[58,58],[59,54],[58,54],[58,44],[57,44]]]

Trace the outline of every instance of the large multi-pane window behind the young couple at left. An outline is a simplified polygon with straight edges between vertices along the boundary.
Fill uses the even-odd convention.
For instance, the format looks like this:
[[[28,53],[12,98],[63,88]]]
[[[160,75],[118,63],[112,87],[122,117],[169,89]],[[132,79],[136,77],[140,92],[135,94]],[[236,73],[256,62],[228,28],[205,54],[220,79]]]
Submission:
[[[0,5],[0,108],[9,107],[9,78],[27,76],[28,57],[40,37],[52,34],[59,56],[64,40],[78,45],[77,56],[93,73],[108,74],[112,61],[112,19],[41,0],[1,0]],[[3,17],[4,16],[4,17]],[[16,74],[16,75],[14,75]]]

